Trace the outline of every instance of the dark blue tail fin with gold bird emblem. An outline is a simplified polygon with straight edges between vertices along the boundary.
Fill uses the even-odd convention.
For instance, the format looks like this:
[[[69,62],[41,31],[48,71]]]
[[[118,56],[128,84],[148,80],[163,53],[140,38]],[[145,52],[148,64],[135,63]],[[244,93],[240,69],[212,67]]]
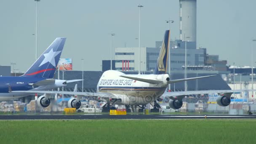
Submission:
[[[167,70],[167,61],[168,61],[168,51],[169,51],[169,43],[170,43],[170,30],[165,31],[165,36],[163,38],[163,44],[157,59],[157,64],[155,66],[155,71],[153,74],[165,74]]]

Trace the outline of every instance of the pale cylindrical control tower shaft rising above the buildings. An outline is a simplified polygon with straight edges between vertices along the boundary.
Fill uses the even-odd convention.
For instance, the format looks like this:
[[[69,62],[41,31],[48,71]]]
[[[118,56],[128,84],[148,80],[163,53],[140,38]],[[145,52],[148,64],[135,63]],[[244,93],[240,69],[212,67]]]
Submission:
[[[179,0],[180,40],[197,40],[197,0]]]

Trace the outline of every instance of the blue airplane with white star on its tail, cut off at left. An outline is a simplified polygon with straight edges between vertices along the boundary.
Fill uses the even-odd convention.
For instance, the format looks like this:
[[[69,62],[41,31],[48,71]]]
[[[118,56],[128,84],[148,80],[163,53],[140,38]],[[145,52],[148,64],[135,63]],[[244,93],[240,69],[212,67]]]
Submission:
[[[59,37],[51,43],[35,63],[20,77],[0,77],[0,101],[31,95],[27,91],[50,90],[80,80],[53,79],[66,38]],[[23,91],[23,92],[12,92]],[[44,98],[44,97],[43,97]],[[50,99],[41,99],[41,105],[47,107]]]

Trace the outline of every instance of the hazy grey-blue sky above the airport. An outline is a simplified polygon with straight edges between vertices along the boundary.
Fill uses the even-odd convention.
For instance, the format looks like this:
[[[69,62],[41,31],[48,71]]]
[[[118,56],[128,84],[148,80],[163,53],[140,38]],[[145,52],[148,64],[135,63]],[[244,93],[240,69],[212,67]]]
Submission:
[[[155,47],[173,19],[171,38],[179,38],[179,0],[41,0],[38,5],[38,56],[56,37],[67,37],[62,58],[73,69],[100,71],[114,47],[138,47],[139,8],[141,46]],[[256,0],[197,0],[197,47],[219,54],[228,64],[251,64],[256,38]],[[35,61],[35,1],[0,0],[0,65],[16,63],[26,71]],[[255,51],[256,53],[256,42]],[[256,57],[254,59],[256,61]]]

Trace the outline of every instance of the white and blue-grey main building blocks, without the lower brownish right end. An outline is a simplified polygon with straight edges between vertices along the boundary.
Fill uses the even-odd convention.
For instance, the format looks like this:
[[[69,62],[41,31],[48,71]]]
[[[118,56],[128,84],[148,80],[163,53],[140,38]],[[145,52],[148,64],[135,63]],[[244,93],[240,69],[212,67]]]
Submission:
[[[160,42],[156,42],[157,44]],[[162,42],[161,42],[162,43]],[[171,48],[171,69],[181,70],[185,65],[184,41],[178,41],[177,48]],[[195,43],[187,43],[187,65],[204,66],[206,49],[194,48]],[[115,68],[116,70],[138,71],[139,64],[141,71],[153,71],[157,63],[160,47],[148,48],[141,47],[141,58],[139,62],[139,48],[116,48],[115,49]],[[126,61],[126,62],[125,62]]]

